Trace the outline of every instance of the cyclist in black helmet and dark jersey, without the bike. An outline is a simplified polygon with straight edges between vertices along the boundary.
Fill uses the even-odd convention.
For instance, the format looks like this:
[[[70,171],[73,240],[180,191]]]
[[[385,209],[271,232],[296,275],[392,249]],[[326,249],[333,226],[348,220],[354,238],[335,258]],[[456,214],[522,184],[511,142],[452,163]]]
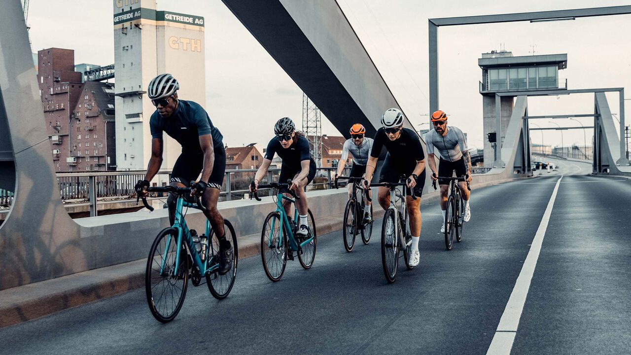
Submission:
[[[300,228],[297,234],[298,236],[306,236],[308,231],[305,186],[315,177],[315,161],[309,152],[309,141],[302,132],[296,131],[296,127],[289,117],[283,117],[276,122],[274,133],[276,136],[269,141],[261,167],[254,176],[254,191],[257,190],[261,179],[268,172],[269,164],[274,159],[274,153],[277,153],[283,159],[278,183],[286,183],[288,179],[292,180],[290,190],[293,190],[300,197],[296,200],[296,207],[300,216],[298,223]],[[284,206],[287,215],[291,215],[289,210],[291,204],[285,203]]]

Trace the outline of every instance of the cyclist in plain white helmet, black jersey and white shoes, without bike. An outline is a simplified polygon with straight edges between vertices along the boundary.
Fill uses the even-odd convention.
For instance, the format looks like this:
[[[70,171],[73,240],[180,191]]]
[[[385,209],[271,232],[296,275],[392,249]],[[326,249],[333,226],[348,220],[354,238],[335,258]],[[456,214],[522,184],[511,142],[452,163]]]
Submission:
[[[382,127],[377,129],[370,158],[366,164],[366,181],[370,184],[383,147],[386,147],[388,153],[384,165],[381,167],[379,183],[399,183],[401,176],[404,176],[406,181],[407,178],[411,178],[406,188],[408,189],[406,203],[412,234],[410,260],[408,262],[410,266],[416,266],[420,260],[418,239],[421,236],[421,210],[419,207],[425,185],[425,152],[423,152],[421,140],[416,132],[409,128],[403,128],[403,119],[403,113],[399,109],[389,109],[381,116]],[[415,195],[418,196],[416,200],[412,200],[410,189],[413,189]],[[379,187],[377,200],[379,200],[379,205],[387,210],[390,206],[388,188]]]

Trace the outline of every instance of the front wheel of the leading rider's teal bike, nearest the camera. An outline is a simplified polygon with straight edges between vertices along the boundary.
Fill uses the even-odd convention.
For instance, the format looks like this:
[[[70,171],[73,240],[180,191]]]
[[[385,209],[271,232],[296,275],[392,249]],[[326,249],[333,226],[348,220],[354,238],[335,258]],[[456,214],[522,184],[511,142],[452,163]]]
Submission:
[[[189,283],[189,257],[182,245],[179,263],[177,229],[165,228],[151,245],[144,278],[144,288],[151,314],[156,320],[167,323],[179,313]]]

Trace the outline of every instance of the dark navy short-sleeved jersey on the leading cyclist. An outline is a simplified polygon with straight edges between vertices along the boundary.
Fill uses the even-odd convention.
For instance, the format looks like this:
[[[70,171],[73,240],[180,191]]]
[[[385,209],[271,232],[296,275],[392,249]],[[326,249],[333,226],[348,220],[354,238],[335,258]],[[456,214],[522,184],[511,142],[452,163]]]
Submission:
[[[212,136],[214,147],[223,147],[221,132],[197,102],[178,100],[177,108],[169,117],[162,117],[156,110],[151,115],[149,127],[153,138],[162,138],[162,132],[167,132],[182,145],[183,153],[201,153],[199,136],[203,135]]]

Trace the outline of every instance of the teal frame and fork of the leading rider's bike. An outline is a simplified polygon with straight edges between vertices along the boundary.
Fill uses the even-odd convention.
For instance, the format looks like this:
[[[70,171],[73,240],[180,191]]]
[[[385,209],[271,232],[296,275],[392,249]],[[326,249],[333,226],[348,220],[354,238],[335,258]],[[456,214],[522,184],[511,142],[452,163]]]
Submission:
[[[208,267],[208,265],[213,264],[211,262],[211,258],[208,257],[209,251],[213,249],[213,243],[210,236],[210,222],[206,220],[206,236],[208,238],[208,248],[206,248],[205,262],[202,262],[201,257],[197,249],[195,248],[195,244],[193,243],[191,231],[189,230],[189,227],[186,224],[186,220],[184,219],[184,215],[182,214],[182,210],[184,209],[184,207],[197,208],[197,205],[195,203],[187,202],[186,200],[184,200],[182,196],[177,197],[177,202],[175,204],[175,221],[174,221],[173,226],[171,226],[172,228],[175,228],[177,230],[177,249],[176,249],[177,251],[175,253],[174,274],[177,275],[178,268],[180,265],[180,252],[182,251],[182,248],[180,246],[182,246],[182,238],[184,238],[184,240],[186,241],[186,245],[189,248],[189,252],[191,253],[194,266],[198,268],[200,275],[205,276],[209,272],[219,267],[219,263],[216,263],[215,265]],[[164,251],[165,255],[167,254],[167,251],[169,250],[170,244],[171,244],[171,238],[167,240],[167,245],[165,246],[165,251]],[[214,250],[210,255],[212,256],[212,258],[215,257]],[[164,258],[162,260],[162,265],[160,265],[161,275],[164,272],[166,262],[167,262],[167,258]]]

